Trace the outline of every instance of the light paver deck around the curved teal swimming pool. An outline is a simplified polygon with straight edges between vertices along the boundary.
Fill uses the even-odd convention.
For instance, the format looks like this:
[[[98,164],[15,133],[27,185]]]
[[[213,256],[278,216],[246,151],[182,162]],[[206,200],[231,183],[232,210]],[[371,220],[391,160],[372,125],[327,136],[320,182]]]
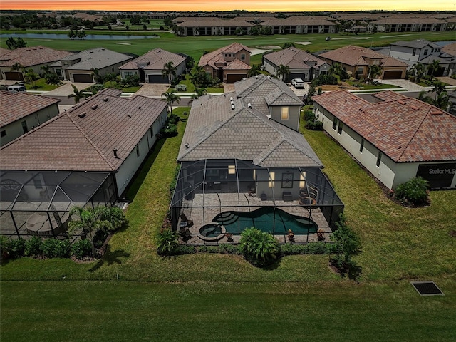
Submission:
[[[294,216],[308,217],[318,225],[318,229],[323,229],[324,242],[330,242],[331,228],[326,222],[325,217],[321,213],[318,207],[304,208],[299,205],[298,200],[283,201],[283,200],[261,200],[259,197],[249,194],[248,192],[213,192],[203,194],[195,194],[193,199],[184,200],[182,202],[182,212],[185,214],[187,219],[193,221],[192,227],[190,227],[190,233],[192,237],[190,239],[182,239],[182,244],[225,244],[229,243],[228,238],[223,236],[221,239],[214,239],[207,241],[202,239],[199,234],[199,229],[205,224],[212,222],[212,219],[220,214],[221,212],[252,212],[261,207],[277,207],[288,212]],[[280,243],[291,243],[286,234],[274,234],[274,237],[279,240]],[[239,236],[233,235],[234,242],[239,243]],[[317,234],[302,234],[294,235],[295,243],[306,243],[306,242],[317,242]]]

